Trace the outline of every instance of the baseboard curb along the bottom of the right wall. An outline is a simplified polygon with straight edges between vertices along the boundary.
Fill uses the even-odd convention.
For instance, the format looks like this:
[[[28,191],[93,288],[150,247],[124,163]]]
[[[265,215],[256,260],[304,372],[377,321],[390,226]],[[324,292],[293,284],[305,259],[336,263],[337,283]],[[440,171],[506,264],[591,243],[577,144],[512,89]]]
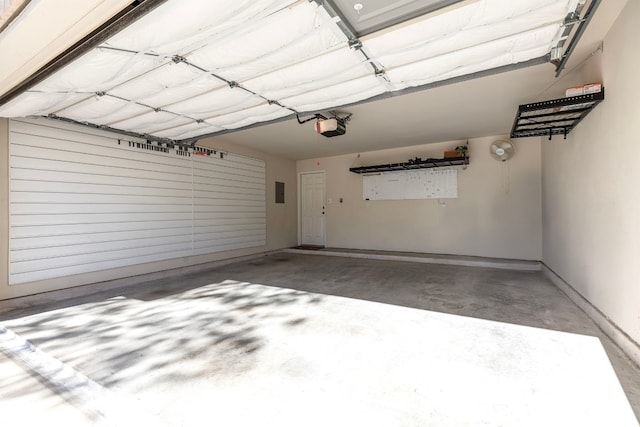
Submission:
[[[618,325],[609,319],[603,312],[598,310],[596,306],[591,304],[582,294],[576,291],[567,281],[560,277],[555,271],[542,263],[542,272],[564,292],[571,301],[584,311],[587,316],[594,321],[602,331],[607,334],[611,340],[625,352],[627,356],[638,366],[640,366],[640,344],[633,340]]]

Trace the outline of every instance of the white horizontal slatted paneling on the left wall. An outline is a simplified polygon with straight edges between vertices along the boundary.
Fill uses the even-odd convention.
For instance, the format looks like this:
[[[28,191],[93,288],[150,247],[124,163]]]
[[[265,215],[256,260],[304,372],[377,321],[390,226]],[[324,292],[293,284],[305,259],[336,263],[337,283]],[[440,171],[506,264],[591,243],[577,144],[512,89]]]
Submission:
[[[262,160],[48,120],[12,120],[9,141],[12,285],[266,244]]]

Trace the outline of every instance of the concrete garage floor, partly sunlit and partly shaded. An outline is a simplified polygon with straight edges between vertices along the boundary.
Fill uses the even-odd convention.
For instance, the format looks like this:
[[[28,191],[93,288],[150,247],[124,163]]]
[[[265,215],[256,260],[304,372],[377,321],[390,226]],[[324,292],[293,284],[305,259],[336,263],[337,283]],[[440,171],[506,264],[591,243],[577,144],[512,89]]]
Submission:
[[[640,414],[640,369],[540,272],[278,253],[46,305],[9,305],[0,308],[0,326],[7,328],[0,329],[0,413],[23,425],[576,425],[578,418],[560,422],[567,411],[588,415],[580,425],[636,425],[623,424],[624,398],[607,400],[616,396],[617,382],[598,341],[585,336],[600,339]],[[503,388],[520,402],[530,399],[530,410],[536,402],[556,402],[555,422],[541,422],[548,421],[544,411],[529,413],[526,423],[504,407],[483,412],[487,405],[478,402],[490,403],[483,398],[491,393],[470,394],[468,380],[451,375],[446,384],[457,387],[449,390],[457,397],[447,402],[465,402],[466,412],[438,413],[447,406],[442,401],[422,413],[424,402],[437,402],[446,391],[422,387],[446,373],[442,366],[425,369],[436,365],[431,346],[462,353],[451,356],[458,367],[478,360],[494,366],[496,358],[467,360],[477,346],[462,344],[497,345],[489,352],[495,356],[496,336],[508,337],[503,346],[517,338],[528,351],[501,353],[499,369],[484,384],[504,385],[505,366],[517,366],[514,375],[526,373],[531,383],[554,372],[559,382],[551,388],[536,383],[547,390],[542,397]],[[398,372],[403,366],[421,366],[431,377]],[[596,377],[603,382],[594,383]],[[360,384],[356,401],[346,392],[354,387],[350,378]],[[577,387],[565,389],[563,378]],[[403,387],[412,381],[417,385],[409,392]],[[371,402],[386,406],[372,410]],[[336,421],[331,408],[341,405],[347,407]],[[350,420],[358,409],[361,416]],[[365,420],[365,412],[378,418]],[[598,416],[607,412],[603,423]]]

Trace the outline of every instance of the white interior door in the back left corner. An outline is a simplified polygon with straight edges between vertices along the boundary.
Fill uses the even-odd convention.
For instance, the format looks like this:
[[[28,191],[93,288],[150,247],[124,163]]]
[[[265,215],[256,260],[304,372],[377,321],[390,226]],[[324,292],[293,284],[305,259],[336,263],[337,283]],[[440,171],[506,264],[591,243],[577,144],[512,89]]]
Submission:
[[[300,175],[300,243],[324,246],[324,172]]]

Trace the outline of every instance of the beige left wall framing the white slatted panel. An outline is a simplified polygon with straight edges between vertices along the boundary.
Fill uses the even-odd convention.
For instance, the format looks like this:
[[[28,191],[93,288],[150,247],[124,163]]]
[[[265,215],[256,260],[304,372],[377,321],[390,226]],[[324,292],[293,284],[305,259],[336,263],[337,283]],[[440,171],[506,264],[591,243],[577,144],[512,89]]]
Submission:
[[[24,295],[37,294],[74,286],[98,283],[108,280],[137,276],[146,273],[164,271],[173,268],[189,267],[211,261],[219,261],[246,255],[259,254],[282,249],[296,244],[297,239],[297,192],[295,162],[255,150],[216,142],[211,145],[206,140],[201,145],[230,151],[265,160],[266,164],[266,201],[267,201],[267,244],[207,255],[181,257],[161,262],[139,264],[130,267],[103,270],[94,273],[78,274],[64,278],[43,280],[33,283],[9,286],[7,273],[8,260],[8,126],[7,120],[0,119],[0,300]],[[275,181],[285,183],[285,204],[275,203]]]

